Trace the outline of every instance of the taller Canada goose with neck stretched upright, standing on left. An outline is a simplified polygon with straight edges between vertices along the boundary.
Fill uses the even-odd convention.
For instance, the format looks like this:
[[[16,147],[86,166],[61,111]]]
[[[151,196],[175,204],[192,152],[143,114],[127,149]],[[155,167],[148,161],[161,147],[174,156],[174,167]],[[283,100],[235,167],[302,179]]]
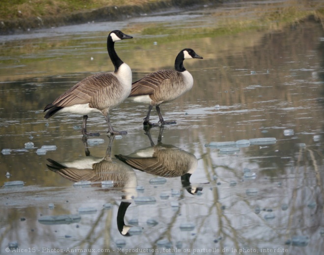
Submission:
[[[116,41],[130,38],[133,37],[119,30],[111,31],[107,38],[107,49],[115,70],[113,72],[96,73],[81,80],[45,107],[44,112],[49,110],[45,118],[49,118],[57,112],[83,115],[81,132],[84,136],[93,136],[99,134],[87,132],[86,120],[88,114],[102,113],[108,125],[108,133],[127,134],[126,131],[116,131],[112,128],[109,110],[124,101],[131,92],[132,70],[118,57],[114,48]]]

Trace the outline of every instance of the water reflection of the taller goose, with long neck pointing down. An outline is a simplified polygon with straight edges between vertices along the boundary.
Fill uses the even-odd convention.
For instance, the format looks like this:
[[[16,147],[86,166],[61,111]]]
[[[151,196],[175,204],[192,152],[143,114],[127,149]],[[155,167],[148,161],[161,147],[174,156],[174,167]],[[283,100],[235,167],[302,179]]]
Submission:
[[[109,137],[106,156],[103,158],[90,155],[87,139],[84,138],[86,157],[73,162],[56,162],[47,159],[50,162],[47,166],[51,171],[72,182],[90,181],[92,186],[101,186],[102,181],[112,181],[112,188],[121,188],[123,196],[117,213],[117,227],[122,235],[129,236],[132,226],[125,224],[124,217],[126,210],[131,205],[132,198],[137,196],[137,178],[132,167],[111,158],[113,139],[114,136]]]

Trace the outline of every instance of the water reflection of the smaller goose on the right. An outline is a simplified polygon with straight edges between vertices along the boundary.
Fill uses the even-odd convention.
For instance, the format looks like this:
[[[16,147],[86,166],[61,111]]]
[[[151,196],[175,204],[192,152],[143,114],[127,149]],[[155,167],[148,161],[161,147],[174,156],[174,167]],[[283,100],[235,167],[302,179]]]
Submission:
[[[197,158],[176,146],[162,143],[163,127],[160,127],[158,143],[155,145],[151,134],[151,127],[144,128],[145,135],[150,139],[151,146],[138,149],[130,155],[115,155],[122,162],[146,173],[172,178],[181,177],[181,183],[187,191],[195,195],[202,187],[194,187],[190,183],[190,176],[197,168]]]

